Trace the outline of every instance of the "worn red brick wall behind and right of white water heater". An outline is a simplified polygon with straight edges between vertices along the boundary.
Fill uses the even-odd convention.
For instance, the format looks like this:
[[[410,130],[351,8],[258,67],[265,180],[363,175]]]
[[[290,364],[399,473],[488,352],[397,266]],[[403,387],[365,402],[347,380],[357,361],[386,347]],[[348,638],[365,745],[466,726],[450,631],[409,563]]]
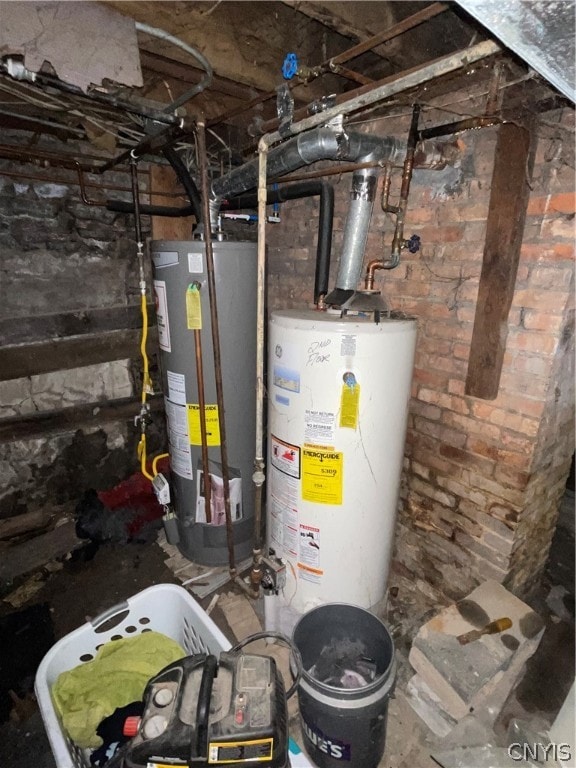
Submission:
[[[431,125],[447,119],[440,110],[424,116]],[[407,126],[406,118],[382,119],[369,130],[405,136]],[[573,126],[566,110],[547,114],[538,127],[495,400],[468,397],[464,387],[496,127],[459,137],[457,167],[415,171],[405,235],[420,235],[422,248],[404,252],[397,269],[376,273],[388,304],[416,316],[419,326],[394,571],[433,594],[458,598],[487,578],[527,592],[548,555],[574,450]],[[350,180],[335,183],[337,256]],[[392,203],[399,181],[397,171]],[[282,217],[268,230],[270,309],[312,301],[315,205],[286,204]],[[377,203],[365,263],[389,256],[392,232]]]

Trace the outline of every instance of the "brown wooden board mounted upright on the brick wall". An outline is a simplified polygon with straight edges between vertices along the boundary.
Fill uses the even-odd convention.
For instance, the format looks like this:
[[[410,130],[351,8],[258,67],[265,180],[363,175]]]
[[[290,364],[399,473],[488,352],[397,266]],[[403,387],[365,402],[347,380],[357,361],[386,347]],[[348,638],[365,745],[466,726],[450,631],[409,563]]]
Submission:
[[[498,129],[484,259],[468,360],[466,394],[498,395],[534,165],[531,131],[514,123]]]

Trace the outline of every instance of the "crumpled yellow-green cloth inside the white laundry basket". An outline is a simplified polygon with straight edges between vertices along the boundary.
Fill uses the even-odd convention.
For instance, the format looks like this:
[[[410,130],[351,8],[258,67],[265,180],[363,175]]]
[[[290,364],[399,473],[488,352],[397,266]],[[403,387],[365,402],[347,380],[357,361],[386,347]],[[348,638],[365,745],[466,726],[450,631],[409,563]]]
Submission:
[[[99,747],[96,728],[102,720],[142,699],[148,680],[185,655],[166,635],[144,632],[106,643],[92,661],[63,672],[52,699],[68,736],[79,747]]]

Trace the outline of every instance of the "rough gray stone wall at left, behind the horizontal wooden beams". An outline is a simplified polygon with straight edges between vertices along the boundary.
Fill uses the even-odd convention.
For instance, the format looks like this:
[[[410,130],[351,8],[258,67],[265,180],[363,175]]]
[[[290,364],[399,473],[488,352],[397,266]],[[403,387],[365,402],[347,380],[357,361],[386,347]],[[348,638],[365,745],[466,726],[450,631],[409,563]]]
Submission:
[[[19,134],[8,134],[3,135],[6,143],[17,145],[23,141]],[[39,148],[93,152],[90,147],[63,147],[53,139],[43,139]],[[86,181],[130,188],[126,169],[106,174],[105,180],[88,175]],[[45,434],[41,421],[30,437],[19,439],[17,430],[12,438],[2,432],[0,517],[38,507],[73,505],[86,488],[110,487],[138,467],[135,451],[139,435],[132,419],[98,420],[100,408],[139,395],[137,338],[133,353],[128,350],[120,359],[112,359],[111,355],[102,362],[74,366],[72,357],[65,360],[66,353],[59,352],[59,342],[75,338],[80,342],[76,349],[82,361],[89,361],[91,345],[97,343],[105,349],[106,340],[121,333],[122,328],[107,329],[111,336],[79,336],[83,318],[88,329],[94,313],[98,317],[108,312],[110,317],[114,313],[121,316],[133,307],[137,318],[139,311],[132,218],[110,213],[101,206],[85,205],[75,182],[74,172],[0,160],[0,341],[2,346],[10,345],[10,349],[22,353],[27,374],[22,376],[20,372],[12,378],[9,371],[3,372],[0,431],[7,424],[18,427],[19,420],[34,425],[35,418],[38,421],[54,414],[72,414],[77,407],[92,406],[89,424],[76,424],[73,416],[67,416],[64,426],[51,428]],[[147,173],[142,173],[143,193],[147,184]],[[121,189],[88,187],[87,193],[95,200],[131,199],[130,193]],[[149,234],[147,220],[144,226]],[[132,327],[137,336],[136,323],[137,319]],[[72,336],[66,331],[68,326],[73,329]],[[53,327],[64,330],[54,336],[49,330]],[[42,371],[38,372],[38,345],[48,343],[54,344],[54,363],[44,355]],[[157,382],[153,349],[151,353]],[[100,357],[106,357],[105,351]],[[135,402],[134,415],[138,410]],[[149,447],[156,450],[163,444],[163,418],[157,415]]]

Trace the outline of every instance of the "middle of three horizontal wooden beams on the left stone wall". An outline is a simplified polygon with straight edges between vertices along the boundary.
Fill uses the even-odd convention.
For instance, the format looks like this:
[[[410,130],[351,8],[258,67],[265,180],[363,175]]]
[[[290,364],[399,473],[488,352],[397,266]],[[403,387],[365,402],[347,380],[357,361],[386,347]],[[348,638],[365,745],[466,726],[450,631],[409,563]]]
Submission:
[[[2,347],[0,381],[135,358],[140,354],[140,334],[139,329],[130,329]],[[156,328],[150,329],[148,338],[151,345],[157,341]]]

